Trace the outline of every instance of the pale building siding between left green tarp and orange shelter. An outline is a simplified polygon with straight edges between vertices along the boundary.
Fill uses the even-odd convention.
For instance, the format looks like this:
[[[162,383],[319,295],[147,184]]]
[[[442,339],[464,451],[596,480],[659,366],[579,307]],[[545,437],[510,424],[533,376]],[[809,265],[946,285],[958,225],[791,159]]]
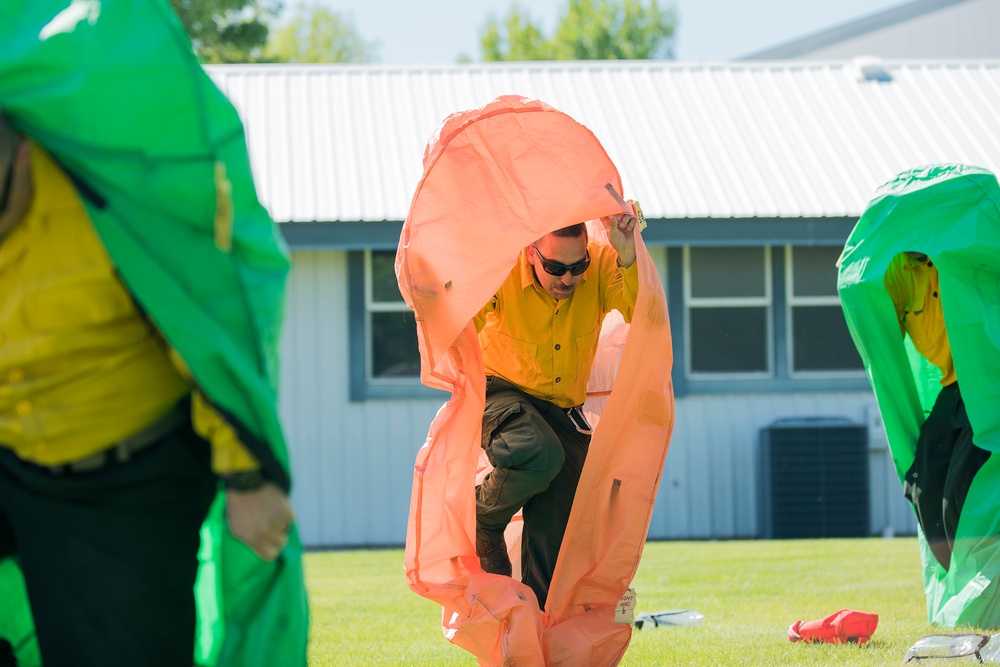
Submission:
[[[398,545],[437,400],[349,400],[347,253],[296,250],[281,345],[292,502],[307,546]]]

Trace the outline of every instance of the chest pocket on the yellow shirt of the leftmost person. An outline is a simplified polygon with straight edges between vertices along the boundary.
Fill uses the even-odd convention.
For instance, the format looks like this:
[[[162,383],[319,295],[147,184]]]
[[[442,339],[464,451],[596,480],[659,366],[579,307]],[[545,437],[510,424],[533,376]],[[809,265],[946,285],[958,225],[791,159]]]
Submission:
[[[119,283],[95,279],[35,290],[24,300],[23,309],[27,325],[37,332],[99,327],[137,312]]]

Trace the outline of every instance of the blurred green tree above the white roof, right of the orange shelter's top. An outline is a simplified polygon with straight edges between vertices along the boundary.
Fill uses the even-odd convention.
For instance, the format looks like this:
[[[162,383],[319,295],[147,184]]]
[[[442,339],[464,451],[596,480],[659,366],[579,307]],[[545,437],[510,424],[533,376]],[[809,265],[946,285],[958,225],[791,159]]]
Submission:
[[[480,44],[483,60],[635,60],[673,58],[673,8],[657,0],[569,0],[547,38],[516,4],[501,24],[490,18]]]

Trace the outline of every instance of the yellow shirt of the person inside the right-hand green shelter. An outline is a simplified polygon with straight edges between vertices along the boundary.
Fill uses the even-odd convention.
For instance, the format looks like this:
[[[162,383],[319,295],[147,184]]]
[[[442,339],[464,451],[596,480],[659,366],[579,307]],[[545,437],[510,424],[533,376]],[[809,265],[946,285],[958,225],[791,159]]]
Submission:
[[[916,260],[906,253],[897,255],[886,269],[885,289],[896,306],[900,331],[910,336],[917,352],[941,370],[942,385],[955,382],[934,262]]]

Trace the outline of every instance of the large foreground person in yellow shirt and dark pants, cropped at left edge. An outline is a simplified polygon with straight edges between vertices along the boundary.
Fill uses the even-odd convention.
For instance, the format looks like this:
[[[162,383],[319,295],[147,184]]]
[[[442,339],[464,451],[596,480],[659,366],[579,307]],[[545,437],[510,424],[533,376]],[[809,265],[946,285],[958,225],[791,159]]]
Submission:
[[[218,477],[265,560],[288,499],[132,300],[66,173],[2,115],[0,294],[0,558],[19,559],[44,664],[190,665]]]

